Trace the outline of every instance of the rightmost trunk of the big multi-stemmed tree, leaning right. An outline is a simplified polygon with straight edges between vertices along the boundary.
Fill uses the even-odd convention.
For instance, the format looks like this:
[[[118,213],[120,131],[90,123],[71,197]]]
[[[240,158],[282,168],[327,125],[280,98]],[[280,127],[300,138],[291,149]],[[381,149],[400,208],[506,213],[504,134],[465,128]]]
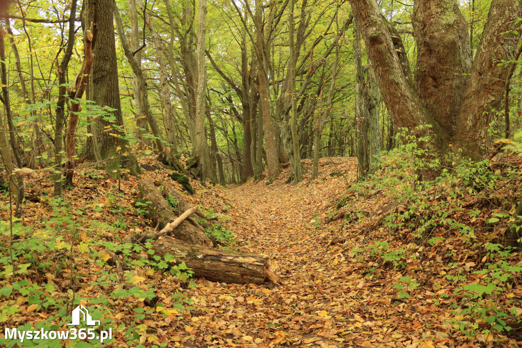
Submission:
[[[466,83],[455,134],[457,148],[464,148],[465,154],[475,159],[489,154],[487,128],[503,100],[509,74],[509,65],[499,63],[515,57],[521,32],[517,21],[520,17],[521,2],[494,0],[491,3]]]

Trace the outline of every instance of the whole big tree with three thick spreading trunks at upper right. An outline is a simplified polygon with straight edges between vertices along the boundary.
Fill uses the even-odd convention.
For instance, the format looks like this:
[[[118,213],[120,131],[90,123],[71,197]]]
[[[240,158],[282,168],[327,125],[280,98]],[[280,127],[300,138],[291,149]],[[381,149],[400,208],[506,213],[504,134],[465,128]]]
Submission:
[[[423,0],[413,6],[417,45],[413,85],[401,39],[390,30],[376,0],[350,0],[382,98],[394,124],[432,135],[435,151],[463,148],[480,158],[489,152],[487,127],[500,106],[509,67],[515,56],[522,3],[493,0],[477,53],[471,61],[467,23],[457,0]],[[471,63],[472,62],[472,63]]]

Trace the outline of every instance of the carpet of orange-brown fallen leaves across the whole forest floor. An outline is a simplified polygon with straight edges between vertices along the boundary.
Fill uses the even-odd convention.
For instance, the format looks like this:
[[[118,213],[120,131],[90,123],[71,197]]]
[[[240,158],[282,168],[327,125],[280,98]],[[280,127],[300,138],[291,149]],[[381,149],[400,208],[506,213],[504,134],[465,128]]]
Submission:
[[[143,176],[165,185],[178,185],[167,177],[169,170],[145,167],[148,170]],[[108,346],[124,347],[131,342],[124,331],[128,329],[127,316],[132,307],[147,310],[145,318],[133,321],[139,331],[134,335],[135,344],[151,348],[522,346],[522,330],[515,324],[508,336],[486,332],[467,337],[447,323],[455,318],[450,304],[454,303],[453,290],[458,282],[448,281],[444,275],[459,268],[471,274],[480,263],[478,260],[484,261],[485,256],[461,248],[459,236],[447,236],[444,242],[427,246],[412,242],[407,231],[392,235],[385,228],[365,230],[374,226],[391,196],[382,190],[373,190],[371,194],[351,190],[356,180],[357,159],[321,159],[316,180],[310,180],[311,160],[304,160],[303,167],[304,180],[297,185],[284,183],[290,171],[286,168],[271,183],[262,180],[204,188],[193,182],[196,194],[184,194],[189,204],[200,204],[207,213],[224,217],[221,223],[233,231],[235,239],[227,248],[266,254],[280,277],[278,284],[241,285],[195,279],[197,285],[187,287],[187,283],[167,272],[152,272],[147,265],[126,269],[125,274],[132,274],[137,286],[148,284],[155,289],[162,307],[157,304],[154,308],[138,298],[110,299],[114,312],[109,319],[120,328],[115,329],[115,339]],[[55,291],[49,291],[50,296],[67,297],[71,288],[78,298],[109,296],[114,287],[92,285],[104,267],[99,260],[88,256],[97,248],[103,252],[106,244],[97,242],[87,251],[85,243],[93,239],[117,241],[131,233],[150,232],[154,226],[136,210],[137,178],[122,181],[117,190],[117,180],[106,179],[103,172],[90,168],[78,170],[75,180],[78,186],[66,193],[71,215],[67,223],[56,221],[57,215],[66,214],[63,210],[56,213],[57,205],[51,203],[52,185],[41,180],[28,185],[29,197],[34,202],[28,200],[22,225],[38,230],[49,224],[56,228],[76,222],[75,230],[80,232],[79,240],[73,242],[78,246],[74,258],[77,280],[70,284],[73,271],[67,258],[61,266],[53,261],[56,269],[29,268],[18,277],[38,284],[57,284]],[[348,219],[328,222],[338,213],[341,201],[345,209],[349,206],[352,212],[367,213],[367,218],[350,215]],[[394,208],[400,210],[401,206]],[[0,214],[5,221],[7,212],[8,205],[4,202]],[[357,222],[359,218],[361,222]],[[63,233],[67,234],[65,229]],[[65,236],[63,240],[67,242],[70,238]],[[412,251],[400,257],[400,266],[383,262],[375,257],[375,247],[369,248],[375,240],[387,241],[391,250],[404,247]],[[67,256],[68,249],[64,249],[62,256]],[[453,265],[447,259],[448,250],[454,251],[458,259]],[[513,254],[513,264],[521,258],[520,253]],[[404,286],[405,277],[408,286]],[[3,289],[12,286],[9,285],[12,281],[0,281],[0,295],[5,295]],[[15,303],[19,310],[5,311],[0,316],[6,327],[21,323],[34,326],[38,321],[60,319],[50,317],[52,310],[31,305],[27,294],[9,294],[2,297],[2,300],[7,298],[2,310]],[[502,295],[522,299],[522,286],[518,282],[508,289],[507,295]],[[191,310],[170,309],[179,308],[172,306],[173,298],[184,299],[185,307],[191,306]],[[510,309],[522,315],[521,308]],[[479,325],[488,327],[484,322]],[[2,335],[3,332],[0,339]]]

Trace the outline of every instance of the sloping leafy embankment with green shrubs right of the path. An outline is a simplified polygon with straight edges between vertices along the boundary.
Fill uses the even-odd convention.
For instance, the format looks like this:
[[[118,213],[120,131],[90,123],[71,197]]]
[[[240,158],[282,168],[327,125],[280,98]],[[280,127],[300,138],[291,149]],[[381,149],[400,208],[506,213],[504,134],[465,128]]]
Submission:
[[[338,229],[331,248],[363,263],[396,304],[428,295],[450,312],[453,330],[521,341],[522,252],[507,247],[504,232],[518,222],[522,161],[498,157],[450,169],[426,167],[411,149],[390,153],[337,201],[325,221]],[[420,181],[423,170],[437,177]]]

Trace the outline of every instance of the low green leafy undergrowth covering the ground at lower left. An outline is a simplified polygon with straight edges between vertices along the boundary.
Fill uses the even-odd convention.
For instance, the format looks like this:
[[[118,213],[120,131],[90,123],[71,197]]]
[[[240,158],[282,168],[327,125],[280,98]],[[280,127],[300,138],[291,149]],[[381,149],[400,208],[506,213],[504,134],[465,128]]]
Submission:
[[[9,214],[8,196],[2,201],[0,213]],[[112,330],[113,338],[122,335],[129,346],[143,347],[140,337],[149,330],[146,318],[156,313],[167,318],[193,309],[182,291],[171,294],[169,308],[160,303],[155,305],[156,285],[147,277],[185,282],[191,271],[183,263],[169,266],[167,262],[174,261],[169,254],[164,259],[147,257],[153,253],[149,243],[121,245],[120,229],[145,228],[143,219],[136,218],[144,213],[141,204],[132,206],[121,193],[109,193],[99,203],[42,195],[41,204],[52,213],[48,218],[42,217],[38,224],[28,225],[17,218],[0,221],[0,235],[7,241],[0,245],[0,323],[4,327],[19,331],[67,330],[71,311],[82,304],[94,320],[101,320],[97,332]],[[111,214],[115,219],[134,216],[118,217],[109,223]],[[39,315],[36,324],[36,318],[27,320],[27,316],[35,314]],[[84,327],[82,324],[78,329]],[[62,346],[60,340],[20,343],[5,337],[0,339],[2,346],[15,344]],[[71,347],[101,345],[99,340],[67,343]],[[156,346],[165,345],[158,342]]]

